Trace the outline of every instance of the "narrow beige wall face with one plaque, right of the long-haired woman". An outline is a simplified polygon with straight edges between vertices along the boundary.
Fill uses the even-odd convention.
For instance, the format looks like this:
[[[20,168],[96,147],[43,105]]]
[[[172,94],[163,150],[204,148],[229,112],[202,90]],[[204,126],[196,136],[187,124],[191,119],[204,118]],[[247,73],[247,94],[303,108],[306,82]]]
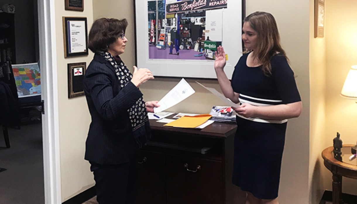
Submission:
[[[326,37],[314,38],[314,2],[310,0],[310,203],[319,203],[325,190],[321,152],[325,141]]]

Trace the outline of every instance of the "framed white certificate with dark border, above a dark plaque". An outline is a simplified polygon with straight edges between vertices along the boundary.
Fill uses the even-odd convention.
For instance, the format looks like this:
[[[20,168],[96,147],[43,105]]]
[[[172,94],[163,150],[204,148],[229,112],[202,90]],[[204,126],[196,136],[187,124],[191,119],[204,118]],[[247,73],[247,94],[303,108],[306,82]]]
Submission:
[[[65,58],[88,55],[87,18],[63,17]]]

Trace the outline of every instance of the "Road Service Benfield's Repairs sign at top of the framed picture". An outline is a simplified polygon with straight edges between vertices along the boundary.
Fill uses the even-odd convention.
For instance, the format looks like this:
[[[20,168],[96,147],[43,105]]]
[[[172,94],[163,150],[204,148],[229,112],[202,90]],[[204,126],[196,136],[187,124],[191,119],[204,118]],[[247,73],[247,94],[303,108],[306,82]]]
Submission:
[[[228,0],[187,0],[166,5],[166,14],[226,8]]]

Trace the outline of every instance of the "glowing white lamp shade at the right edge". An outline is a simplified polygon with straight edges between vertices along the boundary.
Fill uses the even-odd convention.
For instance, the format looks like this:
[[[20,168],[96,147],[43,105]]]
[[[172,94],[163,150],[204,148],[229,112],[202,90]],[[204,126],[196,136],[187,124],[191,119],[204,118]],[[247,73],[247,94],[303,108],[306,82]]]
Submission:
[[[347,74],[345,84],[343,84],[341,96],[357,99],[357,65],[353,65]]]

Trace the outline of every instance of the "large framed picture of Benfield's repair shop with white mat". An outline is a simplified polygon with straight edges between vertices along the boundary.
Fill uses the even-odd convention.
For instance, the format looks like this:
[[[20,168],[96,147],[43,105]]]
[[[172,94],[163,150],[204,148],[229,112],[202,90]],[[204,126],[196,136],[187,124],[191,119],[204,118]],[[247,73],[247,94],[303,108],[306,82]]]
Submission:
[[[242,55],[245,0],[135,0],[136,64],[154,76],[216,78],[215,51],[225,48],[232,76]]]

